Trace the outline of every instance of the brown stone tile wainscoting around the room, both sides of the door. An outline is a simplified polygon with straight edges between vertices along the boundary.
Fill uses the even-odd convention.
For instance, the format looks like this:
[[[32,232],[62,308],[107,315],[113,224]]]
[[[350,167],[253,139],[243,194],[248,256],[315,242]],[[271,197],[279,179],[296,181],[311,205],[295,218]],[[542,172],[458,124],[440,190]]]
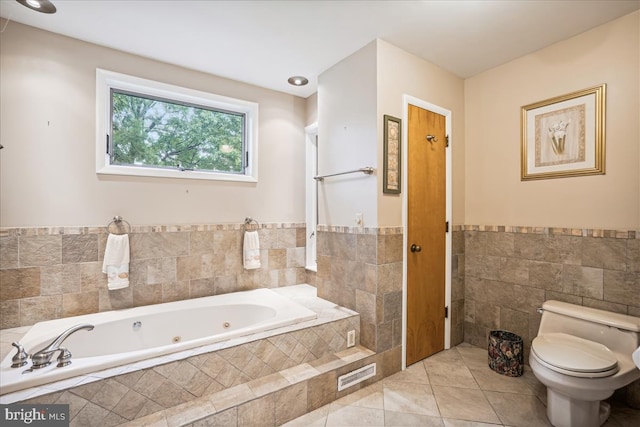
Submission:
[[[241,224],[134,226],[131,286],[108,291],[104,227],[0,229],[0,329],[259,287],[310,283],[361,315],[361,343],[399,348],[402,229],[320,226],[307,272],[304,224],[263,224],[262,268],[242,268]],[[455,226],[452,345],[508,329],[528,349],[546,299],[640,316],[640,232]]]

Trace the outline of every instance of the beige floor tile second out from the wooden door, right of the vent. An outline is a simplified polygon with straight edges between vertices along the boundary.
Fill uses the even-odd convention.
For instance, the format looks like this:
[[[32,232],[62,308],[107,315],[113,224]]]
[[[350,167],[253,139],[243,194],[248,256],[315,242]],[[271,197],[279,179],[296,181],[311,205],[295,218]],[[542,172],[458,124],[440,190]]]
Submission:
[[[386,411],[440,416],[428,384],[386,381],[383,387]]]

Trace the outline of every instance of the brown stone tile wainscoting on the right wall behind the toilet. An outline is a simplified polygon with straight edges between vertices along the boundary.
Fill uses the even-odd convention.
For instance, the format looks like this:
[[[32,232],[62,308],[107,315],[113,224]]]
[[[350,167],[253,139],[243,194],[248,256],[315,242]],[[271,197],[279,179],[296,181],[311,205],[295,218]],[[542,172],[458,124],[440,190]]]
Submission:
[[[525,360],[536,308],[555,299],[640,316],[640,232],[464,226],[464,340],[520,335]],[[460,268],[460,265],[458,266]]]

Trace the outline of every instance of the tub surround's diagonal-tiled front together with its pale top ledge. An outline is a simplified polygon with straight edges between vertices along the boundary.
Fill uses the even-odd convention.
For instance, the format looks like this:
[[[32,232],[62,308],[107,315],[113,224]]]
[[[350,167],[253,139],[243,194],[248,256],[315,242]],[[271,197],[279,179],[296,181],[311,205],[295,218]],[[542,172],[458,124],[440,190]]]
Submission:
[[[70,404],[72,425],[115,425],[176,405],[188,406],[246,383],[264,390],[269,383],[264,379],[278,371],[286,370],[291,378],[304,377],[305,366],[330,365],[334,353],[347,350],[347,331],[356,331],[357,342],[357,313],[317,298],[315,288],[308,285],[276,292],[315,311],[318,318],[255,334],[255,341],[236,338],[4,395],[0,401]],[[0,334],[3,343],[19,338],[17,335],[16,330]]]

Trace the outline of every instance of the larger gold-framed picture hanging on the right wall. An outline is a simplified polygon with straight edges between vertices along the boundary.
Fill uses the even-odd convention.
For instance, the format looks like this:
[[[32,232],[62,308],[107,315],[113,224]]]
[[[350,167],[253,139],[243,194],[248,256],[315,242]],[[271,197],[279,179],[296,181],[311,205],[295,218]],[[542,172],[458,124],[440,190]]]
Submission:
[[[521,180],[605,173],[606,85],[521,109]]]

